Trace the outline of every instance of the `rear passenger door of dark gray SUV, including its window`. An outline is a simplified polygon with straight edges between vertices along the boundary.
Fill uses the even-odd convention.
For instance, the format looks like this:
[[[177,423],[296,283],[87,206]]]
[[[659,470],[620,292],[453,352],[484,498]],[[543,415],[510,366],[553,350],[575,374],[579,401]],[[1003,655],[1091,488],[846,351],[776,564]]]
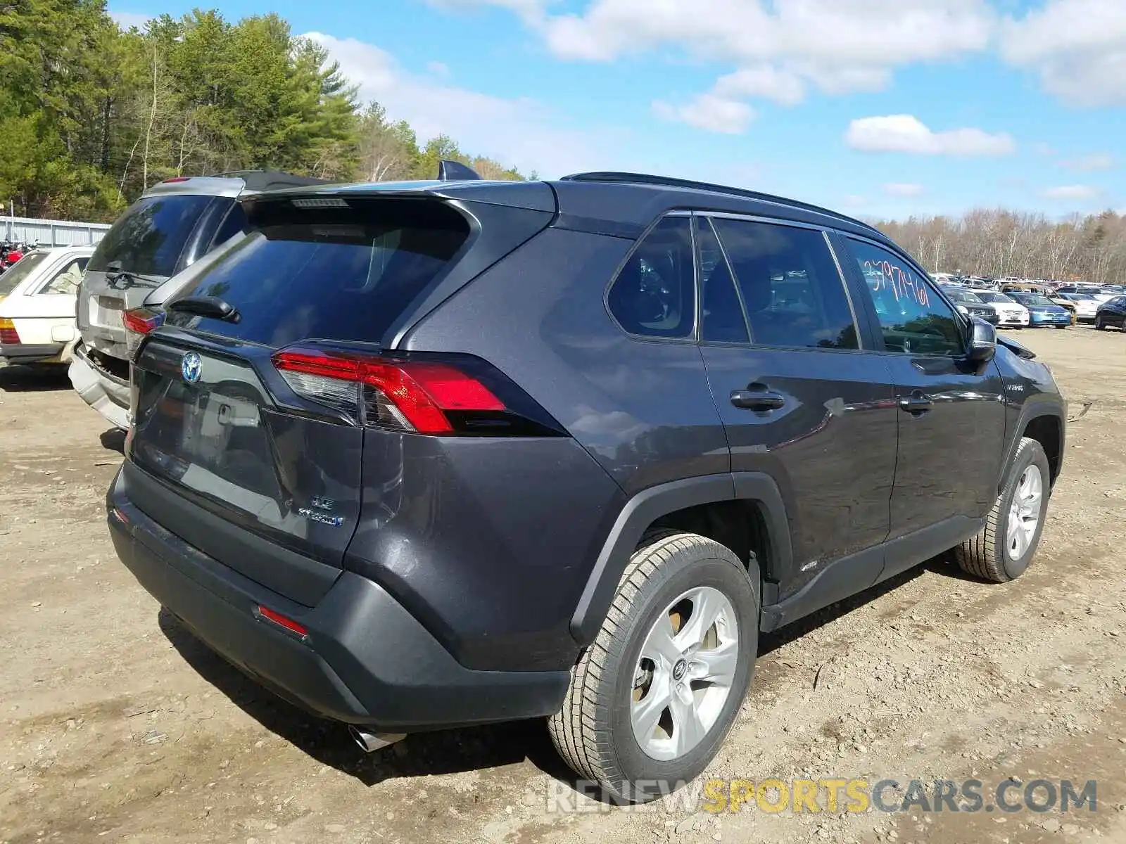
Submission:
[[[887,537],[890,375],[864,342],[822,231],[720,215],[696,224],[700,348],[732,472],[766,473],[786,501],[795,568],[786,598]],[[841,593],[823,603],[869,585],[883,567],[878,553],[855,562]]]

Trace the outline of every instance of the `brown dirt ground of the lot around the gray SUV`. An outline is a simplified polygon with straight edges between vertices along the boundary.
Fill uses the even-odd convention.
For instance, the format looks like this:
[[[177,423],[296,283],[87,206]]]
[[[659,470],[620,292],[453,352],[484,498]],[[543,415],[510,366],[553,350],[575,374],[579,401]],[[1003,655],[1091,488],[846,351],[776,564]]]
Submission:
[[[1097,780],[1097,811],[625,811],[574,798],[538,722],[365,756],[160,612],[107,535],[120,436],[65,374],[10,368],[0,842],[1126,842],[1126,335],[1018,338],[1078,417],[1033,568],[997,586],[932,562],[767,638],[707,775]]]

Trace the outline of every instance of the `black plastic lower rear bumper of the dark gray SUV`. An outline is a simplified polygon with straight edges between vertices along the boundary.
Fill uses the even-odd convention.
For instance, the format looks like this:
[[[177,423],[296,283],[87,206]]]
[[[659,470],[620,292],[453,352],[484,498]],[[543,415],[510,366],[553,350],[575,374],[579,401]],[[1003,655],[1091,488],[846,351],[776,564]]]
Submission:
[[[315,607],[295,603],[208,557],[133,505],[122,475],[107,495],[122,562],[213,650],[303,708],[377,730],[536,718],[558,710],[565,671],[472,671],[375,582],[341,572]],[[307,629],[260,619],[267,607]]]

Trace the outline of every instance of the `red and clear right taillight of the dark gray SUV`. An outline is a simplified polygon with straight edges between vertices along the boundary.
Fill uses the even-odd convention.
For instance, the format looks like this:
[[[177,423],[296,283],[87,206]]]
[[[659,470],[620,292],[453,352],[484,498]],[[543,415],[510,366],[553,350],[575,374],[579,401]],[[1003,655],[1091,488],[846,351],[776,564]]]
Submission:
[[[297,348],[274,366],[300,396],[334,407],[359,424],[415,433],[491,432],[509,407],[479,378],[445,361]],[[476,424],[475,424],[476,423]]]

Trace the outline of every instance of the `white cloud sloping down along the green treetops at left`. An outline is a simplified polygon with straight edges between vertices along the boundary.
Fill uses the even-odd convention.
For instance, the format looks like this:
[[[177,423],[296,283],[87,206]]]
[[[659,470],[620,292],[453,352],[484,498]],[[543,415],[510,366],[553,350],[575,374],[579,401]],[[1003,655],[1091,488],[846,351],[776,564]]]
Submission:
[[[394,56],[355,38],[322,33],[305,37],[323,45],[341,72],[359,86],[361,100],[378,100],[393,119],[404,119],[420,141],[447,134],[476,155],[489,155],[519,168],[556,178],[582,170],[626,164],[622,132],[580,131],[530,98],[506,99],[405,72]],[[624,160],[625,159],[625,160]]]

